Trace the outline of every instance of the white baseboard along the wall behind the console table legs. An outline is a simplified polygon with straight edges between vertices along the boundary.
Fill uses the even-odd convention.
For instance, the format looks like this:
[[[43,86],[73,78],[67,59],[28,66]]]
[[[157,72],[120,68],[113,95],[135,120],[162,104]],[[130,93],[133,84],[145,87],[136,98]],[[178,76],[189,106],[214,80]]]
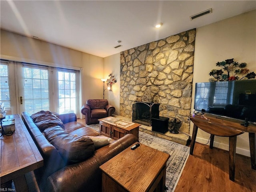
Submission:
[[[208,140],[206,140],[204,138],[196,137],[196,142],[201,143],[201,144],[206,144],[208,142]],[[210,145],[210,142],[207,145]],[[229,151],[229,146],[227,144],[223,144],[223,143],[219,143],[219,142],[214,141],[213,146],[216,147],[216,148],[220,148],[220,149]],[[250,157],[250,150],[246,150],[246,149],[243,149],[243,148],[236,147],[236,153],[240,154],[240,155]]]

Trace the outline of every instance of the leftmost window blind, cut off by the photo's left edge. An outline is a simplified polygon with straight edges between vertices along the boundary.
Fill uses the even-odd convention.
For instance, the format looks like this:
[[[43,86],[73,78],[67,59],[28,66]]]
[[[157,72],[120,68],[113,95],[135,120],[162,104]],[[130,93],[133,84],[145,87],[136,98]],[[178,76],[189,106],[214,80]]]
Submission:
[[[8,62],[0,62],[0,102],[4,103],[6,114],[12,114],[10,95],[10,73]],[[14,86],[14,85],[13,85]]]

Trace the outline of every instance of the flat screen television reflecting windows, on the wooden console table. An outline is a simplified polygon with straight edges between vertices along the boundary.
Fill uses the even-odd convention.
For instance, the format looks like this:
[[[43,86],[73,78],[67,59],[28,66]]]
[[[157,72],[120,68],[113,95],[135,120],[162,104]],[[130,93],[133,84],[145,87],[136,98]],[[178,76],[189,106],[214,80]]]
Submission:
[[[194,109],[256,122],[256,80],[196,83]]]

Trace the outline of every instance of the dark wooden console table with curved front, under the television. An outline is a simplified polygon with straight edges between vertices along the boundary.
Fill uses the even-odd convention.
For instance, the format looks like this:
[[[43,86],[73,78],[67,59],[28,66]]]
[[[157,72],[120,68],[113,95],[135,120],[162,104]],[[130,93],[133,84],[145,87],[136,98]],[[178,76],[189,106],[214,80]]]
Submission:
[[[252,169],[256,170],[256,125],[249,124],[248,127],[241,125],[242,120],[229,120],[211,114],[202,116],[191,115],[190,120],[194,123],[190,154],[193,154],[196,134],[198,128],[210,133],[210,148],[213,147],[214,136],[229,137],[229,179],[235,179],[235,155],[236,155],[236,136],[245,132],[249,133],[250,155]]]

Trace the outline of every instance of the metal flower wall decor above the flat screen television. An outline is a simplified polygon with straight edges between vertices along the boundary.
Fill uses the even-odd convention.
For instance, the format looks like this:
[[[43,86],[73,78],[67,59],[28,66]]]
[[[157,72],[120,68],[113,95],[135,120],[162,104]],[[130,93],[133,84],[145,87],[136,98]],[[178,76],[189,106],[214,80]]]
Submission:
[[[243,78],[246,79],[252,79],[255,78],[256,74],[254,72],[249,73],[249,69],[246,68],[246,63],[238,63],[234,62],[234,58],[227,59],[222,62],[217,62],[216,66],[223,67],[224,71],[222,69],[217,70],[213,69],[209,75],[213,76],[213,78],[210,78],[210,82],[214,81],[234,81],[234,80],[242,80]],[[226,72],[226,73],[224,73]],[[242,78],[238,77],[242,76]]]

